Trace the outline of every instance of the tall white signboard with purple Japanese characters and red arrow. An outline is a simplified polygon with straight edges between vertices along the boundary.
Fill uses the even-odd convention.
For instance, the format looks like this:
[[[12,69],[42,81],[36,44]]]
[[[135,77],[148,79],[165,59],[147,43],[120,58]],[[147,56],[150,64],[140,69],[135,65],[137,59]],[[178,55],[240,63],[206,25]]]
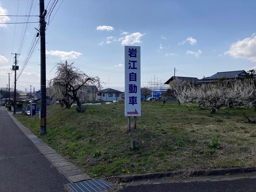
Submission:
[[[140,116],[140,46],[124,46],[125,116]]]

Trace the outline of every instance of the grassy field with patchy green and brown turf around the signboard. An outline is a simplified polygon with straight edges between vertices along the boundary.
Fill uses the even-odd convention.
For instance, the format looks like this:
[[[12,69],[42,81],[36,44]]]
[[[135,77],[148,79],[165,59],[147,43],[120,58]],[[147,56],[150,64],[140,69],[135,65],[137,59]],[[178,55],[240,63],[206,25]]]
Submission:
[[[132,132],[126,131],[123,102],[87,106],[84,113],[60,106],[47,110],[45,136],[38,118],[15,117],[92,177],[256,166],[256,124],[246,123],[242,114],[256,119],[251,109],[225,108],[211,115],[197,105],[142,102]]]

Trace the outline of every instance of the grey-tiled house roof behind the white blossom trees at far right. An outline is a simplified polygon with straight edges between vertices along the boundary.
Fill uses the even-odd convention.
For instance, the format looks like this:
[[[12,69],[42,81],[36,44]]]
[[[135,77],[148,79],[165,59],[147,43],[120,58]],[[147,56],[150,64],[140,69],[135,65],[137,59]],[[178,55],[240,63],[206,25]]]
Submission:
[[[202,78],[202,80],[199,82],[201,84],[208,84],[208,83],[214,83],[218,82],[220,78],[223,78],[224,81],[234,81],[238,79],[243,79],[247,75],[247,72],[245,70],[239,70],[239,71],[225,71],[225,72],[217,72],[216,74]]]

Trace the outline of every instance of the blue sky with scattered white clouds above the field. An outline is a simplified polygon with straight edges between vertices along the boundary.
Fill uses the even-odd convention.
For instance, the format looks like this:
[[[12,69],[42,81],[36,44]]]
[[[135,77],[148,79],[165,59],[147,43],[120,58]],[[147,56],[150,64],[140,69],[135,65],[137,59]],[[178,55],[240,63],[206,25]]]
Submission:
[[[45,7],[57,0],[45,0]],[[0,0],[0,15],[39,14],[39,0]],[[46,22],[46,79],[54,63],[74,62],[104,87],[124,91],[124,46],[141,46],[141,85],[174,75],[203,78],[216,72],[256,68],[254,0],[58,0]],[[0,16],[0,23],[38,22],[38,17]],[[0,87],[13,86],[9,70],[33,42],[38,23],[0,24]],[[17,89],[40,89],[40,46]],[[19,73],[19,71],[17,71]]]

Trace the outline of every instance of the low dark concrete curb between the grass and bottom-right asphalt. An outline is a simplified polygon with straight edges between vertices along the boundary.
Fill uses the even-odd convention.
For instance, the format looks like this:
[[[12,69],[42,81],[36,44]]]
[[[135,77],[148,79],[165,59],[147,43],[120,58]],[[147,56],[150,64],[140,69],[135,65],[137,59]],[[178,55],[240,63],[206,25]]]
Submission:
[[[197,170],[197,171],[191,172],[189,176],[212,176],[212,175],[248,173],[248,172],[256,172],[256,167]],[[170,176],[175,176],[175,175],[184,174],[184,173],[186,172],[170,171],[170,172],[157,172],[157,173],[147,173],[147,174],[111,176],[111,177],[108,177],[107,180],[111,182],[118,182],[118,183],[130,182],[132,180],[164,178],[164,177],[170,177]]]

